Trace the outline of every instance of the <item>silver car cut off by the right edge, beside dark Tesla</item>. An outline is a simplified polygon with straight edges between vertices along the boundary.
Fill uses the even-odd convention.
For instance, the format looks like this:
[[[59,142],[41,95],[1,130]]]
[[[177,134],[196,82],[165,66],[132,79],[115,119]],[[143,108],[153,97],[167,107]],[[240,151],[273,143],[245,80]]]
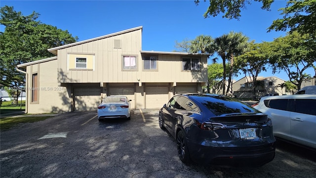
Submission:
[[[316,148],[316,94],[263,97],[253,107],[272,120],[277,138]]]

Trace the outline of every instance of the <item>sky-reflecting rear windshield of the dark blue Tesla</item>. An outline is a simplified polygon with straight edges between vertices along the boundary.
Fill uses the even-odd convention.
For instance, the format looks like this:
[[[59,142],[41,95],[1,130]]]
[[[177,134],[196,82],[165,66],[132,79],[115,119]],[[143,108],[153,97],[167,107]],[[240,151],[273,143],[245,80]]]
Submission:
[[[257,113],[256,109],[239,101],[238,99],[224,95],[197,95],[197,101],[203,104],[216,116],[231,113]]]

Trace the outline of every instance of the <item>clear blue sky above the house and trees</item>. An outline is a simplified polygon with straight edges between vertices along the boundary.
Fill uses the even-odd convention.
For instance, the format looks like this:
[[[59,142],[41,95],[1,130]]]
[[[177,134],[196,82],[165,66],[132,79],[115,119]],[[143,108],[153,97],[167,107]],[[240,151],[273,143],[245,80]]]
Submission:
[[[68,30],[79,41],[143,26],[142,50],[173,51],[175,41],[193,40],[198,35],[216,38],[230,31],[242,32],[256,43],[285,36],[285,32],[267,32],[273,20],[282,17],[277,9],[285,7],[285,0],[276,0],[271,11],[252,1],[239,20],[222,18],[222,14],[204,18],[209,3],[200,1],[196,5],[194,0],[1,0],[0,6],[13,6],[25,16],[38,12],[42,23]],[[0,28],[3,32],[3,26]],[[313,71],[308,74],[314,76]],[[259,76],[272,75],[268,70]],[[275,76],[289,80],[285,72]],[[235,80],[242,77],[244,74]]]

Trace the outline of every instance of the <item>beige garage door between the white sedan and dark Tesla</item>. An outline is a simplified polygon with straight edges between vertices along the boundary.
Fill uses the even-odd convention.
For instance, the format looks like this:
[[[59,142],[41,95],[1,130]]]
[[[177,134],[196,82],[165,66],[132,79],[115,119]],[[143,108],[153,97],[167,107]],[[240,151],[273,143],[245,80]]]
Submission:
[[[168,101],[168,87],[146,87],[146,108],[161,108]]]

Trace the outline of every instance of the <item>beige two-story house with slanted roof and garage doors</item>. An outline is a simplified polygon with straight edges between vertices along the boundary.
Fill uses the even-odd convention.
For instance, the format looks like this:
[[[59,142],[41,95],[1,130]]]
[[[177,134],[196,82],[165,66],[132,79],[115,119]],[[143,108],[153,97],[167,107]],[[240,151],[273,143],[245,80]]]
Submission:
[[[126,95],[131,108],[160,108],[207,82],[208,54],[142,50],[136,27],[48,49],[55,57],[17,66],[26,74],[26,112],[96,110],[107,95]]]

